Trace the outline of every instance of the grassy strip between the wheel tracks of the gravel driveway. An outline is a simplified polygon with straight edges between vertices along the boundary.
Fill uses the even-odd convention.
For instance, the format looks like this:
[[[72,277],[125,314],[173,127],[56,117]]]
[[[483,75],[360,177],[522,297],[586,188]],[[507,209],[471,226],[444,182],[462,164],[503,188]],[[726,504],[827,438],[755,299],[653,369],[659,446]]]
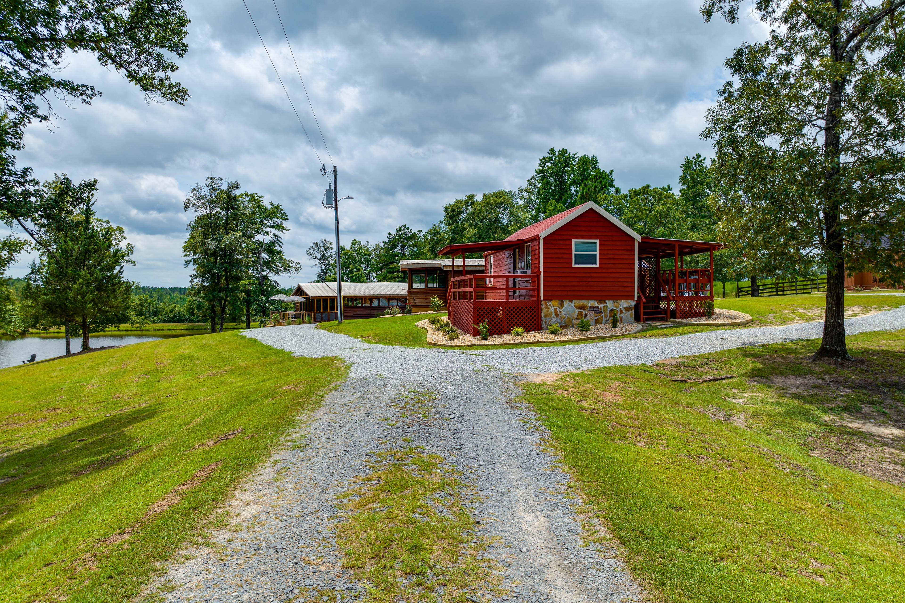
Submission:
[[[368,584],[365,600],[467,603],[469,594],[501,594],[493,561],[482,554],[488,542],[467,544],[474,520],[443,457],[390,450],[377,453],[371,469],[342,496],[349,514],[337,528],[343,565]]]

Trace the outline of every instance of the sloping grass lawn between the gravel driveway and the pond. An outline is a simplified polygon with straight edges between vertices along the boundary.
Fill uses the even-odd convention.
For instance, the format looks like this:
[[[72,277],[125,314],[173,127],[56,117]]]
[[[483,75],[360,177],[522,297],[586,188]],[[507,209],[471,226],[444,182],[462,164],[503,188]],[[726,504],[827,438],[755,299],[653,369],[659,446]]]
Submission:
[[[0,370],[0,600],[132,598],[344,375],[237,333]]]

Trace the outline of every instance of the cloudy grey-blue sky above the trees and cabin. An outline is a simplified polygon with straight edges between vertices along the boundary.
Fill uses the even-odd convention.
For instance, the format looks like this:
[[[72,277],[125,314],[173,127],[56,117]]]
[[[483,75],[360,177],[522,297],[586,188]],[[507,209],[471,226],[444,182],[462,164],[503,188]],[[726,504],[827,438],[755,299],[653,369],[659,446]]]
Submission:
[[[330,2],[277,0],[329,153],[311,117],[271,0],[247,0],[318,157],[292,113],[242,0],[186,0],[185,107],[147,104],[90,56],[71,80],[103,92],[59,106],[20,155],[41,178],[100,181],[99,213],[125,227],[145,285],[186,286],[186,193],[237,180],[289,212],[287,252],[332,239],[320,163],[339,168],[342,241],[423,229],[467,193],[515,189],[550,147],[597,155],[623,189],[675,186],[723,61],[764,35],[753,18],[705,24],[700,0]],[[332,162],[330,161],[332,157]],[[11,270],[22,276],[27,258]]]

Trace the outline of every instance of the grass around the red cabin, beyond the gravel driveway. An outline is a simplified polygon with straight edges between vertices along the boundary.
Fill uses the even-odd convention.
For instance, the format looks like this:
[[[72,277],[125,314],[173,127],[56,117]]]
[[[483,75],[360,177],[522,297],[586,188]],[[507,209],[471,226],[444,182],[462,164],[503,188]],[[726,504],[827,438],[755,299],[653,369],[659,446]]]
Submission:
[[[751,315],[754,321],[748,326],[787,325],[794,322],[823,320],[825,298],[823,294],[809,294],[786,297],[742,297],[739,299],[716,300],[717,307],[738,310]],[[846,316],[861,316],[876,310],[888,310],[905,305],[905,296],[859,294],[845,297]],[[445,315],[444,315],[445,316]],[[318,328],[333,333],[347,334],[368,344],[406,345],[408,347],[431,347],[427,334],[414,324],[424,320],[426,315],[388,316],[386,318],[361,318],[320,323]],[[624,337],[672,337],[675,335],[700,333],[715,328],[744,328],[738,326],[676,326],[664,329],[648,329],[642,333]],[[622,337],[620,337],[621,339]],[[552,344],[511,344],[488,345],[492,348],[537,347],[549,345],[580,345],[588,342],[557,342]],[[484,346],[463,347],[463,350],[481,349]]]

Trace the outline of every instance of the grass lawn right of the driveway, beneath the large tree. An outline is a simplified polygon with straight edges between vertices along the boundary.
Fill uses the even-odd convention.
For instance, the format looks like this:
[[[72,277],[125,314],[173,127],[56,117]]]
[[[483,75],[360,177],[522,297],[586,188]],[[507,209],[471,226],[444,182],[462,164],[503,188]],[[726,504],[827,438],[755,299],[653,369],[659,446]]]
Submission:
[[[842,366],[807,360],[817,344],[526,385],[662,599],[905,600],[905,331],[850,337]]]

